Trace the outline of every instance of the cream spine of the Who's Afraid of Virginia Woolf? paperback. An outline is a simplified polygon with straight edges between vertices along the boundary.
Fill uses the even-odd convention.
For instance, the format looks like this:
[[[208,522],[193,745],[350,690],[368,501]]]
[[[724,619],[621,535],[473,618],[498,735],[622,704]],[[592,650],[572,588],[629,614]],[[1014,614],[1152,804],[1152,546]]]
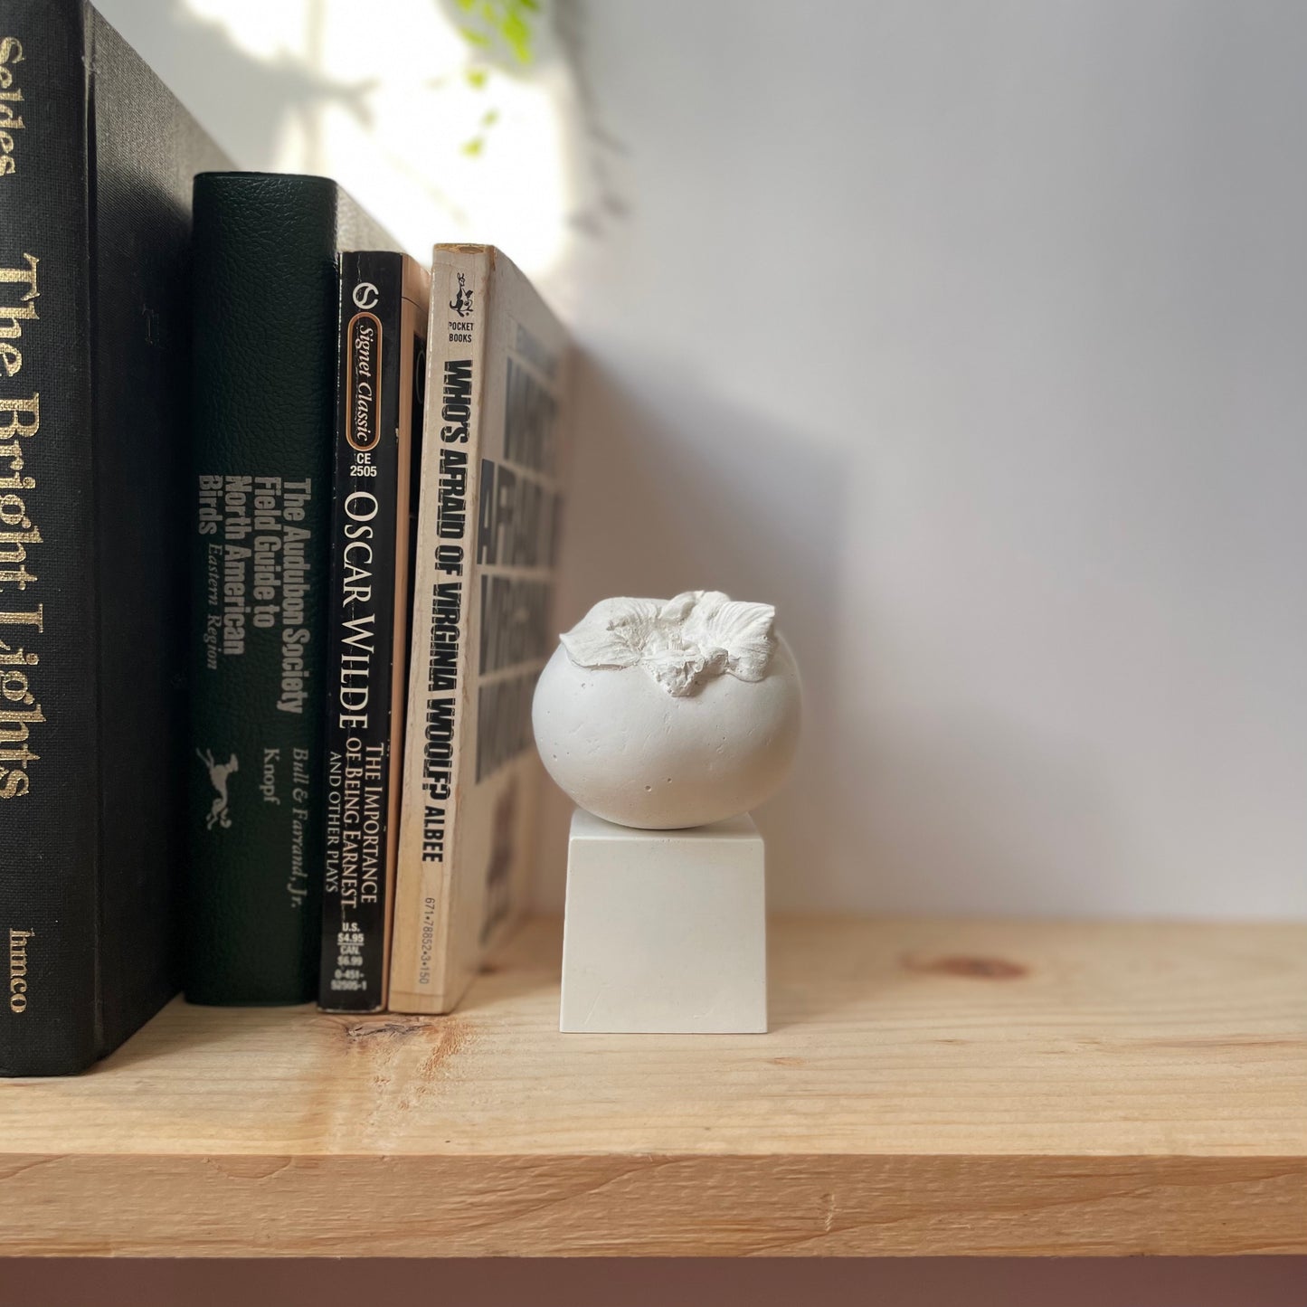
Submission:
[[[444,935],[457,850],[456,778],[472,745],[467,723],[476,655],[471,621],[489,281],[485,247],[437,247],[391,959],[395,1012],[447,1008]]]

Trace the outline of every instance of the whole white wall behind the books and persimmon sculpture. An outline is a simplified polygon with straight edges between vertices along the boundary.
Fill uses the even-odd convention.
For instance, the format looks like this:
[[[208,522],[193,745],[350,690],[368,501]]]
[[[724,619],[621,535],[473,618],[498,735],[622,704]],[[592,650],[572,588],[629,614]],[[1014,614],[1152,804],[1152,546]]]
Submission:
[[[805,668],[776,906],[1307,915],[1307,5],[570,0],[473,94],[437,0],[99,3],[538,276],[565,622],[714,586]]]

